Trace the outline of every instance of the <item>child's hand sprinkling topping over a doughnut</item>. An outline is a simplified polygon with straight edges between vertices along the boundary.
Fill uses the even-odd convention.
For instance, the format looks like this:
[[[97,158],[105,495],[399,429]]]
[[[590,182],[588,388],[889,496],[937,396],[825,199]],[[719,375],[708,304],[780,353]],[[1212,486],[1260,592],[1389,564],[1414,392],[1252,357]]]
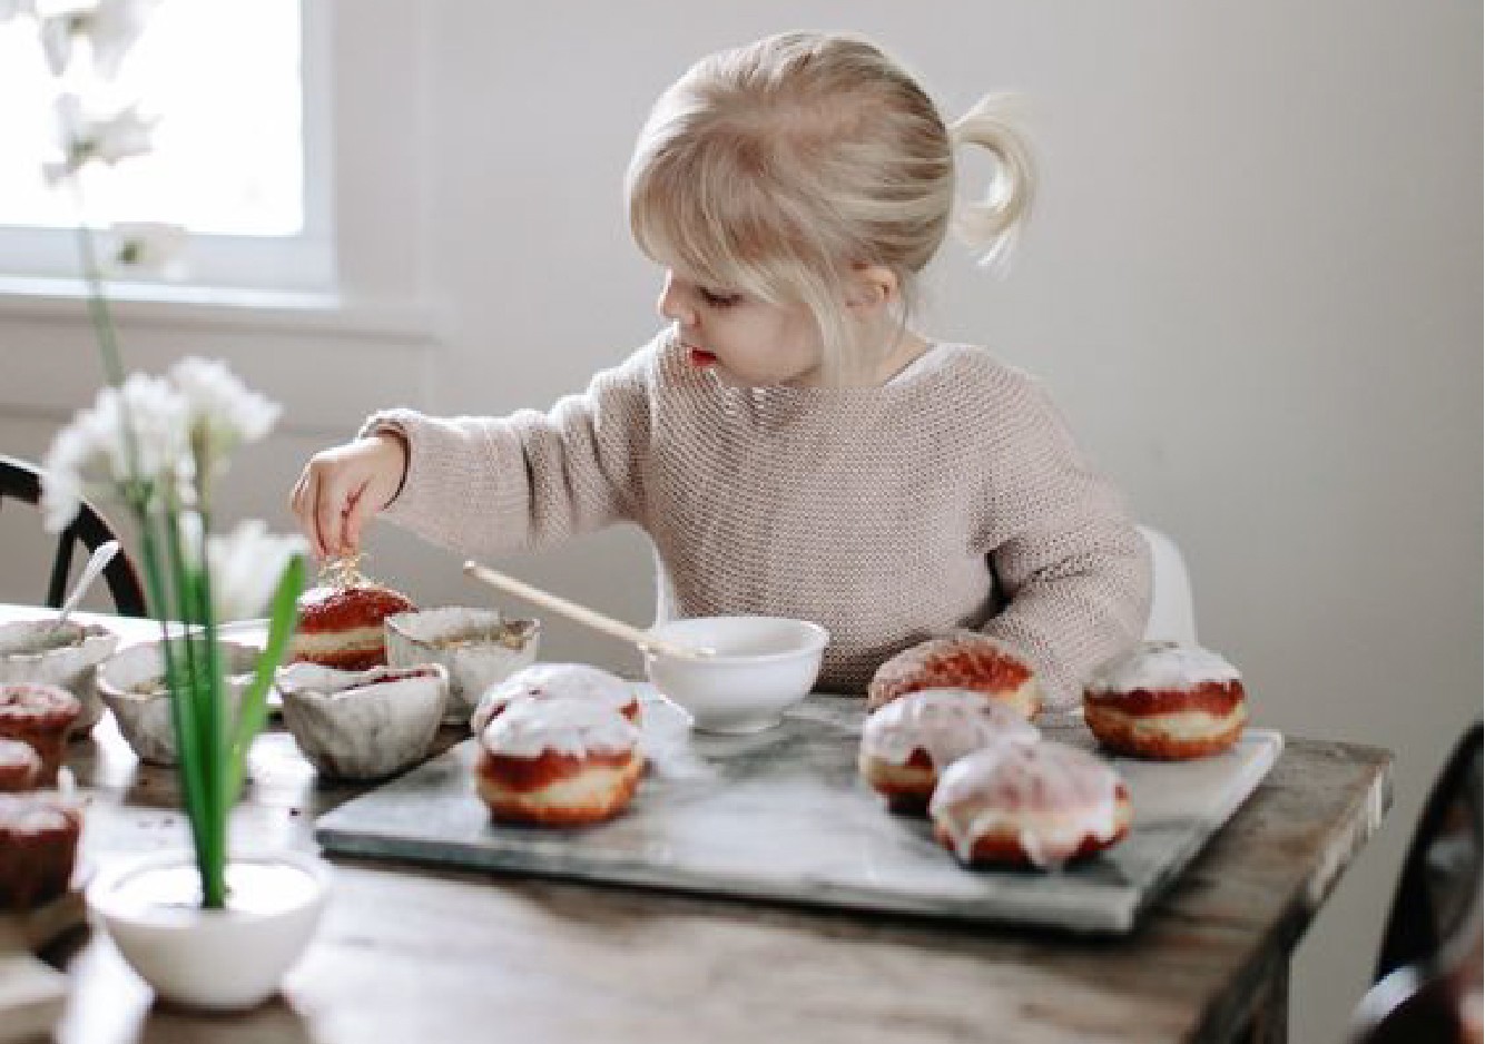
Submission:
[[[407,443],[380,432],[312,456],[288,505],[318,557],[350,555],[367,520],[392,502],[405,474]]]

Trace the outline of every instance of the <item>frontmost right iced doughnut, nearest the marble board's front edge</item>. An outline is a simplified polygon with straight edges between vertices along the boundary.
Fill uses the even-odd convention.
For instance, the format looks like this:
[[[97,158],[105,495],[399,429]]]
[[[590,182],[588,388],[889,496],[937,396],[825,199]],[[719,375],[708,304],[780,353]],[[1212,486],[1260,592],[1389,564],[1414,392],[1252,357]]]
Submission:
[[[1109,848],[1132,818],[1118,774],[1065,743],[1005,743],[961,757],[928,805],[934,838],[965,866],[1056,869]]]

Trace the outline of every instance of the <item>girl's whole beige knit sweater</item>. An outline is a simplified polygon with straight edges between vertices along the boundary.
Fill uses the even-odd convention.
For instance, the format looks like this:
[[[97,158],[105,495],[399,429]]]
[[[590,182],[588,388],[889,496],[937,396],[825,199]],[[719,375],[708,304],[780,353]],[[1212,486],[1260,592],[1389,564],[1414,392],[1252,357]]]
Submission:
[[[937,345],[881,388],[731,388],[668,337],[549,413],[374,414],[410,446],[386,518],[465,555],[613,523],[655,545],[658,618],[766,613],[830,630],[821,691],[955,628],[1025,652],[1053,707],[1133,643],[1149,561],[1045,392]]]

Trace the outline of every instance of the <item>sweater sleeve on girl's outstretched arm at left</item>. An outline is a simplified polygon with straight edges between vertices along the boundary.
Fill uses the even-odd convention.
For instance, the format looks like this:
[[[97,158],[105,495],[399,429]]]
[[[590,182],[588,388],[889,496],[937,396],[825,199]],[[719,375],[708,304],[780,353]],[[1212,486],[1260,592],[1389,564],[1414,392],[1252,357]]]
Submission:
[[[548,413],[429,417],[385,410],[361,434],[407,440],[388,521],[460,554],[542,549],[642,511],[653,355],[642,349]]]

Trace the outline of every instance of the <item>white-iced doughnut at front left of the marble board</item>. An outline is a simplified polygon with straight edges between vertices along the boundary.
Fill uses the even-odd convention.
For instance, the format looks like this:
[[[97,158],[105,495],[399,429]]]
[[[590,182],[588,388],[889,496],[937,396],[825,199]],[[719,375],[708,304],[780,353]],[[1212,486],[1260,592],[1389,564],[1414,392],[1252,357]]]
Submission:
[[[496,820],[582,826],[634,797],[640,732],[585,699],[515,699],[481,732],[475,783]]]

